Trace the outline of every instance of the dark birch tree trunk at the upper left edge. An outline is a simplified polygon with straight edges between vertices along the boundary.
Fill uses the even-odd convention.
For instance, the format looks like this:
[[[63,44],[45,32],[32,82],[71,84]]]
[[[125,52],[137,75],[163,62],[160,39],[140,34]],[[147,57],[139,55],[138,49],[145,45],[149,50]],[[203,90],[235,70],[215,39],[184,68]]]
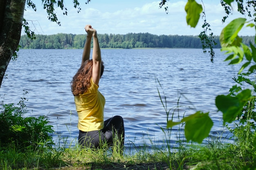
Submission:
[[[0,87],[21,34],[26,0],[0,0]]]

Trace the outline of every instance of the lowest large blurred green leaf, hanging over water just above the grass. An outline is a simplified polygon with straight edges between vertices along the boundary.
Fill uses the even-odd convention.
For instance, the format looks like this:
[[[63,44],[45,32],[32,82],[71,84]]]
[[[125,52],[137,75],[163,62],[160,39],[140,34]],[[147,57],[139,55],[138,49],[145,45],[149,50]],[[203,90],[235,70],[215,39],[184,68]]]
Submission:
[[[203,139],[209,136],[213,121],[208,113],[198,111],[193,115],[193,119],[186,121],[184,132],[187,141],[202,143]]]

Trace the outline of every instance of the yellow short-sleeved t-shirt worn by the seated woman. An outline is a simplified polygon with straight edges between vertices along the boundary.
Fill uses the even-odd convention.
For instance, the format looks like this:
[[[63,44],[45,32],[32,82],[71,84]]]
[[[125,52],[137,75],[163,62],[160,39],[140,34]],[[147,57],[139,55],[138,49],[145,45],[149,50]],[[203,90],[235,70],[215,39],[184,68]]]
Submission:
[[[99,86],[91,79],[90,88],[82,95],[74,96],[78,113],[77,127],[84,132],[104,128],[103,112],[106,101],[98,88]]]

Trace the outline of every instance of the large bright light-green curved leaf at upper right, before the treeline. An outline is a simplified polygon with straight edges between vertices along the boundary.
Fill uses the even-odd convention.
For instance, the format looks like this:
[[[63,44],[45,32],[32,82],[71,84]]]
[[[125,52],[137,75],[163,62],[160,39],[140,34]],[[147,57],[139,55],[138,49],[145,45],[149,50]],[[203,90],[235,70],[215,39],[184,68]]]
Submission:
[[[242,29],[245,22],[245,18],[236,18],[222,29],[220,34],[220,44],[222,47],[240,44],[241,38],[238,37],[238,32]]]

